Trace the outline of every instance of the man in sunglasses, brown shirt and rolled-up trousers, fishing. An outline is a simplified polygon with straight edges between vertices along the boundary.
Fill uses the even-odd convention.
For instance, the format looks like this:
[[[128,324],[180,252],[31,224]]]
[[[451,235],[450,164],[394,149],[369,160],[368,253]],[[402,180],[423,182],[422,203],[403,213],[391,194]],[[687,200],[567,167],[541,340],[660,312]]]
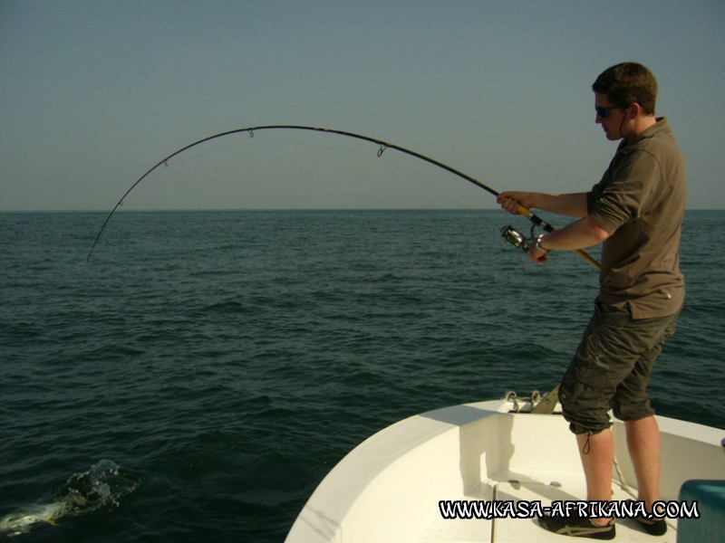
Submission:
[[[646,393],[652,366],[674,333],[684,300],[679,269],[685,207],[681,151],[664,118],[656,118],[657,82],[635,62],[623,62],[594,81],[596,123],[607,139],[622,139],[609,168],[587,193],[505,192],[498,203],[577,217],[531,243],[529,258],[604,243],[600,290],[575,356],[559,388],[565,419],[575,433],[587,500],[612,500],[614,444],[607,414],[624,421],[637,474],[639,500],[648,511],[659,500],[660,433]],[[640,520],[661,535],[663,520]],[[614,538],[614,519],[544,517],[541,525],[572,536]]]

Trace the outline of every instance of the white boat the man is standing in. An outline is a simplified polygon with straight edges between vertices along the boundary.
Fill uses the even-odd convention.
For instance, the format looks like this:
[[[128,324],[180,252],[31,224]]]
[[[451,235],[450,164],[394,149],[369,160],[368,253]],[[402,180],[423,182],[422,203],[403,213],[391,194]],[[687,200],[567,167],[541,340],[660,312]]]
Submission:
[[[536,518],[512,518],[503,509],[490,515],[502,518],[489,519],[445,519],[441,512],[447,502],[510,502],[520,517],[526,509],[522,505],[531,509],[536,502],[551,507],[585,500],[574,436],[555,401],[541,402],[550,405],[545,414],[530,413],[539,399],[536,394],[519,398],[509,393],[502,400],[418,414],[375,433],[328,473],[299,513],[286,543],[585,540],[553,534]],[[636,500],[624,426],[613,420],[613,502]],[[678,500],[684,481],[725,479],[725,430],[662,416],[657,420],[662,500]],[[667,533],[653,537],[637,520],[617,519],[616,541],[675,542],[678,520],[666,521]]]

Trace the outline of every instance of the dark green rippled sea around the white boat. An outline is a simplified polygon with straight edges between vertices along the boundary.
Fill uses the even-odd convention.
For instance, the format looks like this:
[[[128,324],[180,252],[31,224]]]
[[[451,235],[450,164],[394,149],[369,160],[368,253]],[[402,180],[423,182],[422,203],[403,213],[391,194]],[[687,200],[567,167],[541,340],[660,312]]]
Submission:
[[[105,216],[0,214],[0,538],[282,541],[372,433],[555,386],[597,291],[498,210],[121,212],[86,262]],[[723,231],[686,215],[650,386],[720,428]]]

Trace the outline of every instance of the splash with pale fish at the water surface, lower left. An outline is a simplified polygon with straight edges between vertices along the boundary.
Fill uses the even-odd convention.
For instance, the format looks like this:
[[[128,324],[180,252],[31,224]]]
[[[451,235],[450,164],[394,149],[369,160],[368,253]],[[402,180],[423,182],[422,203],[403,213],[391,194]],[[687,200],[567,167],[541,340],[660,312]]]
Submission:
[[[0,519],[0,534],[12,538],[39,523],[55,525],[62,517],[78,517],[95,510],[114,510],[121,499],[140,485],[140,476],[121,470],[116,462],[102,460],[87,472],[74,473],[53,492],[55,500],[37,503]]]

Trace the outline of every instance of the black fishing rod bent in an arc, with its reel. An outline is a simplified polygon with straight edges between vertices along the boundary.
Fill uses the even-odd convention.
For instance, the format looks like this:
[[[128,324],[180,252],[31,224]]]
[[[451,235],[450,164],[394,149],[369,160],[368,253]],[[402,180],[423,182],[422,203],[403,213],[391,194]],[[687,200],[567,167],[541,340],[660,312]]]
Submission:
[[[267,126],[261,126],[261,127],[249,127],[247,129],[235,129],[235,130],[227,130],[226,132],[220,132],[218,134],[215,134],[214,136],[208,136],[208,138],[199,139],[198,141],[195,141],[194,143],[189,144],[186,147],[180,148],[178,151],[174,151],[171,153],[168,157],[162,158],[158,163],[156,163],[153,167],[150,167],[150,169],[139,177],[139,179],[136,180],[136,182],[129,187],[129,189],[121,196],[121,199],[116,203],[116,205],[113,206],[113,209],[111,209],[111,213],[106,217],[105,222],[101,226],[101,230],[99,231],[98,235],[96,236],[95,241],[92,244],[91,251],[88,252],[88,257],[86,258],[86,262],[89,262],[91,260],[91,255],[93,253],[93,250],[96,247],[96,244],[98,244],[99,240],[101,239],[103,231],[105,231],[106,226],[108,225],[109,221],[111,220],[111,216],[113,216],[114,213],[116,213],[116,210],[118,210],[121,205],[123,205],[123,200],[126,199],[126,196],[131,194],[131,191],[140,184],[141,181],[143,181],[147,176],[150,176],[151,172],[153,172],[155,169],[161,166],[169,166],[169,160],[173,157],[176,157],[183,153],[184,151],[196,147],[198,145],[201,145],[202,143],[206,143],[208,141],[211,141],[212,139],[217,138],[224,138],[225,136],[230,136],[232,134],[241,134],[244,132],[247,132],[249,134],[250,138],[254,138],[255,132],[261,131],[261,130],[311,130],[314,132],[324,132],[327,134],[337,134],[338,136],[345,136],[347,138],[355,138],[355,139],[362,139],[363,141],[369,141],[371,143],[374,143],[378,146],[378,157],[382,157],[382,153],[385,152],[386,149],[395,149],[396,151],[400,151],[401,153],[405,153],[406,155],[410,155],[411,157],[420,158],[420,160],[424,160],[425,162],[428,162],[429,164],[432,164],[433,166],[437,166],[440,168],[443,168],[444,170],[448,171],[449,173],[459,176],[469,183],[472,183],[475,186],[478,186],[479,188],[482,188],[483,190],[487,191],[491,195],[498,196],[499,193],[492,189],[490,186],[484,185],[478,179],[475,179],[471,176],[468,176],[464,174],[463,172],[460,172],[459,170],[449,167],[442,162],[439,162],[438,160],[434,160],[433,158],[426,157],[425,155],[421,155],[420,153],[416,153],[415,151],[411,151],[411,149],[402,148],[401,146],[395,145],[393,143],[382,141],[382,139],[377,138],[370,138],[368,136],[362,136],[360,134],[354,134],[353,132],[345,132],[343,130],[334,130],[334,129],[324,129],[319,127],[307,127],[307,126],[300,126],[300,125],[267,125]],[[527,209],[523,205],[519,205],[517,207],[518,214],[524,215],[533,226],[531,227],[531,236],[533,239],[534,236],[534,229],[536,227],[541,228],[542,230],[546,230],[546,232],[552,232],[554,230],[554,227],[551,224],[546,223],[543,219],[536,216],[536,214],[533,214],[531,210]],[[519,233],[515,228],[512,226],[506,226],[501,231],[504,239],[508,243],[511,243],[515,245],[516,247],[527,250],[529,241],[526,240],[525,236],[522,233]],[[596,267],[597,269],[600,268],[599,262],[596,262],[592,256],[590,256],[587,252],[583,250],[576,251],[582,258],[585,259],[586,262],[591,263]]]

